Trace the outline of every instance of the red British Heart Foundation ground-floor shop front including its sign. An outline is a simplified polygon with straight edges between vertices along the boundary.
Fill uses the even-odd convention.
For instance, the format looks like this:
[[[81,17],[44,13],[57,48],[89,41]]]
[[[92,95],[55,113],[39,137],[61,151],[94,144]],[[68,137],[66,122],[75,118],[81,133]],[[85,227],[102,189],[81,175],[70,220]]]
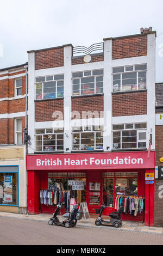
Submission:
[[[123,202],[123,220],[154,225],[154,183],[145,181],[154,168],[154,151],[27,155],[28,212],[53,212],[58,202],[65,212],[72,202],[87,202],[90,213],[105,204],[108,215]]]

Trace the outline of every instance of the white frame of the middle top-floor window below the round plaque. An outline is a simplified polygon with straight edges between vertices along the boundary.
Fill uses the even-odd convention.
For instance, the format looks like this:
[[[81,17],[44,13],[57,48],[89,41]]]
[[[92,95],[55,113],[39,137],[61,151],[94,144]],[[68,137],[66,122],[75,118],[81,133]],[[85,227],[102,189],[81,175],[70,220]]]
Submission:
[[[103,70],[103,75],[93,75],[93,71],[96,70]],[[103,93],[96,93],[96,77],[99,76],[103,76],[104,77],[104,69],[93,69],[93,70],[82,70],[82,71],[77,71],[77,72],[72,72],[72,75],[75,73],[82,73],[83,72],[83,76],[80,77],[72,77],[72,83],[71,83],[71,88],[72,88],[72,97],[76,97],[76,96],[85,96],[83,94],[81,94],[82,91],[82,84],[81,84],[81,79],[85,78],[85,77],[95,77],[95,82],[94,82],[94,93],[93,94],[86,94],[86,95],[96,95],[96,94],[103,94]],[[91,72],[91,75],[89,76],[84,76],[84,72]],[[73,95],[73,80],[74,79],[79,79],[79,94],[78,95]],[[104,89],[104,81],[103,81],[103,89]]]

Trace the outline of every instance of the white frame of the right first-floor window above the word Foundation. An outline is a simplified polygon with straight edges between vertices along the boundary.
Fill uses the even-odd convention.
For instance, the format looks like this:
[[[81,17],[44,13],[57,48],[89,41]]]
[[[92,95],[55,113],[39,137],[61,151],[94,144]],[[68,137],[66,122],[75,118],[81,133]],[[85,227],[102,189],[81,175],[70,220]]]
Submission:
[[[133,129],[126,129],[126,125],[128,125],[128,124],[133,125]],[[147,128],[138,129],[138,128],[135,128],[135,124],[146,124],[147,125],[147,123],[112,124],[112,126],[113,125],[124,125],[124,129],[117,129],[117,130],[112,129],[112,150],[135,150],[135,149],[142,150],[142,149],[147,149]],[[132,148],[125,148],[125,149],[122,148],[122,131],[136,131],[136,148],[133,148],[133,149]],[[121,148],[117,148],[117,149],[113,148],[113,138],[114,138],[113,137],[113,132],[121,132],[120,142],[117,143],[117,144],[121,144]],[[141,133],[141,132],[146,132],[146,139],[141,139],[141,140],[139,139],[139,133]],[[138,148],[138,143],[139,142],[146,142],[146,148]]]

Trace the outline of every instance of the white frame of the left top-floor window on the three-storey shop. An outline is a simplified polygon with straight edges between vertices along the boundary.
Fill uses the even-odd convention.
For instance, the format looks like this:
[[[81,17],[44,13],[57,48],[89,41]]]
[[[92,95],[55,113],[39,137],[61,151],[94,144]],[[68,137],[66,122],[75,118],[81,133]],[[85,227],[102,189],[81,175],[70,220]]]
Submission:
[[[59,75],[63,75],[64,74],[55,74],[55,75],[47,75],[47,76],[39,76],[39,77],[35,77],[35,100],[53,100],[53,99],[62,99],[64,97],[64,92],[63,92],[63,96],[62,97],[58,97],[57,94],[58,94],[58,82],[60,81],[63,81],[64,82],[64,78],[63,79],[60,79],[60,80],[54,80],[54,77],[55,76],[59,76]],[[49,76],[52,76],[53,77],[53,80],[47,80],[47,77]],[[45,81],[44,82],[36,82],[36,78],[41,78],[41,77],[45,77]],[[46,83],[46,82],[55,82],[55,98],[50,98],[50,99],[43,99],[43,83]],[[36,84],[39,84],[39,83],[42,83],[42,99],[36,99]],[[64,85],[63,85],[64,87]],[[65,88],[64,88],[65,90]]]

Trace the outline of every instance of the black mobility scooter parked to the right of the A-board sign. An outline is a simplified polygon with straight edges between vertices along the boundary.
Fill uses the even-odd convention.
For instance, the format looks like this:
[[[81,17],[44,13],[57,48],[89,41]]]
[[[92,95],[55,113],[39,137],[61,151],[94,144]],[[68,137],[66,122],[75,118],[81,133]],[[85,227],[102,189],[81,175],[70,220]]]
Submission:
[[[99,210],[99,216],[96,219],[95,224],[97,226],[103,224],[103,225],[112,225],[115,228],[121,227],[122,226],[121,214],[123,212],[123,203],[121,204],[118,211],[114,211],[114,212],[111,212],[111,214],[109,214],[110,221],[104,221],[103,218],[101,217],[105,208],[107,208],[107,206],[101,205],[100,210],[98,209]]]

